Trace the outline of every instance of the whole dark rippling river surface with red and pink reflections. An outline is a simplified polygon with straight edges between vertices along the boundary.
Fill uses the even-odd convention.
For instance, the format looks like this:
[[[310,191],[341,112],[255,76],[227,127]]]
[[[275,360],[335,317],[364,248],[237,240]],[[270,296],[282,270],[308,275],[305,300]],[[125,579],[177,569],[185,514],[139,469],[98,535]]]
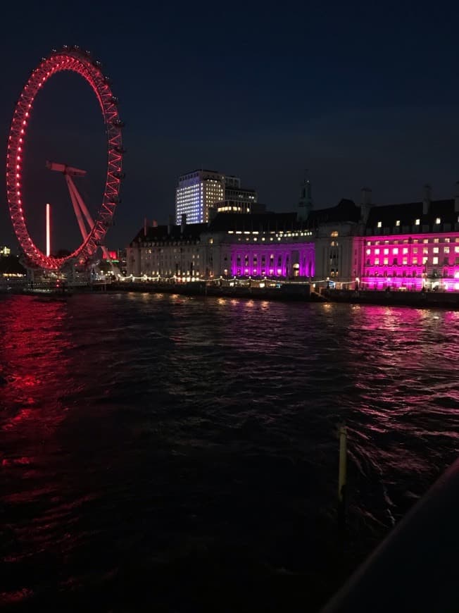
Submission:
[[[458,363],[458,311],[0,297],[5,609],[317,611],[458,456]]]

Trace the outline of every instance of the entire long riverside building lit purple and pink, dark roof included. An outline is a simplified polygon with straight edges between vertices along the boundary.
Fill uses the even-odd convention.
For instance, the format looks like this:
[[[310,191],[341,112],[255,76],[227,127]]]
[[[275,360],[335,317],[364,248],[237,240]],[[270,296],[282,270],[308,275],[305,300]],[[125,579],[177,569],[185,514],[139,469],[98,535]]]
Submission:
[[[457,192],[459,194],[459,190]],[[127,248],[134,277],[272,278],[360,290],[459,291],[459,195],[314,209],[305,180],[292,213],[217,213],[145,226]]]

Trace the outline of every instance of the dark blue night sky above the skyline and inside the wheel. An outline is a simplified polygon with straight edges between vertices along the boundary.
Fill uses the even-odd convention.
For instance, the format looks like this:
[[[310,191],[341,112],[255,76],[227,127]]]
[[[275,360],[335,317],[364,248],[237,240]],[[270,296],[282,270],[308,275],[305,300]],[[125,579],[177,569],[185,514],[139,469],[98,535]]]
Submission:
[[[0,137],[30,71],[53,48],[90,49],[113,80],[126,122],[127,177],[108,247],[124,247],[144,216],[165,223],[177,176],[239,175],[274,211],[294,209],[304,169],[315,206],[453,197],[459,180],[459,9],[449,3],[8,4],[0,46]],[[270,8],[272,7],[272,8]],[[6,10],[6,9],[5,9]],[[25,159],[30,234],[75,247],[77,223],[46,159],[88,171],[95,211],[105,172],[103,122],[89,86],[54,76],[34,106]],[[0,244],[16,249],[4,173]]]

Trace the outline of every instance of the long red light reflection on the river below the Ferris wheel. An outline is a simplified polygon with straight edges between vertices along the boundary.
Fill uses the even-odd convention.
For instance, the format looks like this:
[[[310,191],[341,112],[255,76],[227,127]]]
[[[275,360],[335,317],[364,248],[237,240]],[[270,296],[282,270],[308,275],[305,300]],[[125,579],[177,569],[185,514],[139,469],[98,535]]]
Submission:
[[[7,572],[21,559],[44,550],[34,522],[60,491],[56,471],[73,348],[68,309],[65,302],[27,296],[0,301],[0,466],[4,482],[0,540],[11,541],[8,557],[3,558]],[[28,509],[34,509],[33,519]],[[46,546],[55,538],[51,529],[49,532]],[[30,583],[30,578],[22,577],[11,590],[0,593],[0,601],[11,605],[27,601],[34,595]]]

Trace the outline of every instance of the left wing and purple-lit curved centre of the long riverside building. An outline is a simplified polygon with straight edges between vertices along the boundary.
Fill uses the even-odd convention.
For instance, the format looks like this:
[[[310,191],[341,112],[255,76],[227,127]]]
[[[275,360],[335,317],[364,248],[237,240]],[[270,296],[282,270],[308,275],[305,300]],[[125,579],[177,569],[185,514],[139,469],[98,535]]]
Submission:
[[[296,213],[218,213],[209,223],[154,225],[127,247],[137,278],[272,277],[312,279],[313,233]]]

